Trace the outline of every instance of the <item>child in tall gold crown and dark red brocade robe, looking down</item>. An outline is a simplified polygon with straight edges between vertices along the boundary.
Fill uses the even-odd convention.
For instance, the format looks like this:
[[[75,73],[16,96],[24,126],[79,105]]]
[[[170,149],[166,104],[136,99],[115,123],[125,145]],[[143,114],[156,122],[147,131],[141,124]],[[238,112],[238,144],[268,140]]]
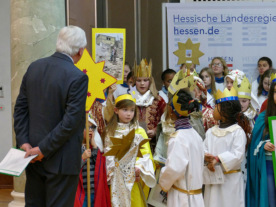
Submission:
[[[132,86],[136,86],[137,91],[129,91],[136,94],[136,105],[138,106],[138,122],[146,122],[147,135],[151,138],[151,152],[154,153],[156,146],[156,129],[157,124],[164,112],[165,101],[157,94],[154,79],[151,76],[152,61],[149,64],[147,60],[142,59],[141,64],[137,66],[134,62],[134,77]],[[134,87],[135,88],[135,87]]]

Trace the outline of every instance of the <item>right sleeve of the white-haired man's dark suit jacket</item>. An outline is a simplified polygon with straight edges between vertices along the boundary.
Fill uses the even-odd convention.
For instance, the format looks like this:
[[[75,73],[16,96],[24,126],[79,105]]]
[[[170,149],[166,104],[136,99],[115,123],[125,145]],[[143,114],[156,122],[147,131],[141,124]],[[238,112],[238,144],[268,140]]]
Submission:
[[[65,114],[59,124],[38,143],[42,154],[49,158],[72,135],[85,113],[85,102],[88,89],[88,76],[81,76],[72,82],[66,103]],[[84,127],[84,126],[83,126]],[[78,137],[77,137],[78,139]]]

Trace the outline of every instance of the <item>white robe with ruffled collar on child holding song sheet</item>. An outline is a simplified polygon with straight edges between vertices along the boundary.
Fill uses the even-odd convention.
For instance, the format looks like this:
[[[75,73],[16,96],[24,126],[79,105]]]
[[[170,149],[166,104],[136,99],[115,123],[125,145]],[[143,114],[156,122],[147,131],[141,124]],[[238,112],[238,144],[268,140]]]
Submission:
[[[207,130],[204,151],[219,157],[222,171],[238,170],[245,154],[245,132],[237,124],[224,129],[218,126]],[[204,205],[244,207],[242,172],[225,174],[224,184],[205,185]]]

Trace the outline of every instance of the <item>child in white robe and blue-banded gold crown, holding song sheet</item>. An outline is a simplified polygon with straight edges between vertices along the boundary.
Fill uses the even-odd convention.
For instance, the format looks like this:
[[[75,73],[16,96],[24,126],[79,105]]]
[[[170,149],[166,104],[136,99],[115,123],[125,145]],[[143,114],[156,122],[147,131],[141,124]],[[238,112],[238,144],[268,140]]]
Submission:
[[[220,165],[224,184],[205,185],[205,207],[244,206],[243,175],[240,170],[245,151],[250,143],[251,126],[242,113],[237,91],[232,87],[215,95],[214,119],[220,121],[208,129],[203,141],[207,168],[215,171]]]

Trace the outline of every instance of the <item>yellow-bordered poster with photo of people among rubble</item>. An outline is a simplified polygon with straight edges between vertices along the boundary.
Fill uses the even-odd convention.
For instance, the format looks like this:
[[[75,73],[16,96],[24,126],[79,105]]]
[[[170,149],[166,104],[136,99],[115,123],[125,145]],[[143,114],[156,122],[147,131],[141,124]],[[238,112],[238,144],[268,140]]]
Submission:
[[[92,56],[95,62],[105,61],[103,71],[123,84],[125,65],[125,29],[93,28]]]

